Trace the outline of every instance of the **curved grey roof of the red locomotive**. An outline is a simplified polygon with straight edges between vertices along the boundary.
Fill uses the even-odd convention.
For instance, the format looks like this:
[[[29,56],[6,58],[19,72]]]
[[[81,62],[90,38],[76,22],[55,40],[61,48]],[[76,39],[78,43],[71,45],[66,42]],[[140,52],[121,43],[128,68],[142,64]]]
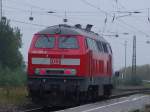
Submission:
[[[87,31],[82,28],[69,26],[66,24],[47,27],[46,29],[39,31],[37,34],[83,35],[85,37],[90,37],[100,41],[107,42],[102,36],[98,35],[97,33],[94,33],[92,31]]]

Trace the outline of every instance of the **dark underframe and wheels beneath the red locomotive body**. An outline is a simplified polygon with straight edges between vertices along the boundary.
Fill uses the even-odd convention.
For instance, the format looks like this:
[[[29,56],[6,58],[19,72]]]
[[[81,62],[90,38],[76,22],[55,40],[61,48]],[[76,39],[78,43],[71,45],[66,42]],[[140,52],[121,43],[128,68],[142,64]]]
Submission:
[[[75,99],[84,96],[86,97],[84,99],[88,99],[89,96],[108,97],[111,94],[112,84],[109,77],[38,76],[28,78],[28,88],[31,97],[49,95],[47,97],[49,100],[54,97],[55,100],[60,100],[64,96],[73,96]],[[84,94],[79,96],[81,93]]]

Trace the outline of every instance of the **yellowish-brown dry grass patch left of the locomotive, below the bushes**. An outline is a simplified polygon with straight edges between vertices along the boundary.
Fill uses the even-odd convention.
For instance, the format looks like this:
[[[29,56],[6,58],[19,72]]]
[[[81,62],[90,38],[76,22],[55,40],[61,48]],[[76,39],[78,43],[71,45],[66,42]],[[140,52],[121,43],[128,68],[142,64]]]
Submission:
[[[27,89],[25,87],[0,88],[0,105],[19,105],[26,101]]]

